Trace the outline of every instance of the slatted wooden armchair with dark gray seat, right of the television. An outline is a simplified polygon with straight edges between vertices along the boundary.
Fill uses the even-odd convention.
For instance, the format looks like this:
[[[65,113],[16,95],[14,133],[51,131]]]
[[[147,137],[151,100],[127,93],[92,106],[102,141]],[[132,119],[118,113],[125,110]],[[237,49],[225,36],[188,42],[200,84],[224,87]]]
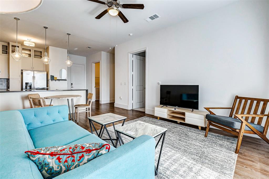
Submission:
[[[231,108],[205,108],[210,112],[206,115],[208,122],[205,137],[207,137],[210,126],[238,136],[235,153],[239,152],[243,134],[256,134],[269,144],[269,139],[266,137],[269,126],[268,102],[269,99],[235,96]],[[231,112],[229,117],[218,116],[211,109],[231,109]]]

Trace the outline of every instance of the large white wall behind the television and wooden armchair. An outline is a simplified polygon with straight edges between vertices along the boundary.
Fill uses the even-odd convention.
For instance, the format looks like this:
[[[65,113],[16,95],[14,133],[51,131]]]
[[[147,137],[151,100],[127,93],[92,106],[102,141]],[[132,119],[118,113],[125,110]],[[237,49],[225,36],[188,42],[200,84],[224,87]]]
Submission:
[[[146,113],[162,84],[198,84],[199,109],[269,98],[269,1],[238,1],[115,47],[115,106],[128,106],[128,52],[147,48]],[[120,100],[122,96],[122,100]],[[228,114],[228,112],[218,112]],[[268,136],[268,135],[267,135]]]

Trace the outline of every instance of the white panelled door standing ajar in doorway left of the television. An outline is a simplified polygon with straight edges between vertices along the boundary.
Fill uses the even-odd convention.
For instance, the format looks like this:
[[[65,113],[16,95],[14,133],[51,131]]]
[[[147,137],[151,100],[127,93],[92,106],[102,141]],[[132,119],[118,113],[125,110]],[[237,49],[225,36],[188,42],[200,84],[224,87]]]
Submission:
[[[133,109],[145,107],[146,58],[133,55]]]

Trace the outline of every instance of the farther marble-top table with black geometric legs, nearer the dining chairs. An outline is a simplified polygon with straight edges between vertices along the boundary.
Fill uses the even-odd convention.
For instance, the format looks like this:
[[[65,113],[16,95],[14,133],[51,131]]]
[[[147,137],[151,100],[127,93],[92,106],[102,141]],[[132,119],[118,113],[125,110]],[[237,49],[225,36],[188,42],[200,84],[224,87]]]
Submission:
[[[114,125],[114,123],[115,123],[115,122],[118,122],[118,121],[123,121],[123,123],[122,123],[122,126],[123,126],[124,123],[125,123],[125,120],[127,119],[126,117],[124,117],[124,116],[120,116],[120,115],[118,115],[118,114],[107,113],[107,114],[101,114],[101,115],[97,115],[97,116],[91,116],[91,117],[88,117],[88,119],[89,119],[89,123],[90,123],[90,128],[91,128],[91,133],[92,133],[92,134],[93,134],[93,129],[92,129],[91,126],[93,126],[93,128],[94,128],[96,134],[97,134],[98,137],[101,138],[101,139],[102,139],[102,135],[103,135],[103,133],[104,133],[104,130],[106,130],[109,139],[102,139],[102,140],[110,140],[110,141],[112,142],[112,145],[113,145],[114,147],[117,146],[117,144],[118,144],[118,140],[117,140],[118,136],[117,136],[116,131],[115,131],[115,125]],[[98,134],[98,132],[97,132],[97,130],[96,130],[94,124],[93,124],[93,121],[101,125],[101,129],[100,129],[100,131],[99,131],[99,134]],[[113,124],[114,131],[115,131],[115,135],[116,135],[116,139],[112,139],[112,138],[111,138],[111,136],[110,136],[110,134],[109,134],[109,132],[108,132],[108,130],[107,130],[107,125],[108,125],[108,124]],[[103,127],[104,127],[104,128],[103,128]],[[102,129],[103,129],[103,130],[102,130]],[[102,132],[101,132],[101,131],[102,131]],[[116,142],[116,145],[114,145],[113,140],[117,141],[117,142]]]

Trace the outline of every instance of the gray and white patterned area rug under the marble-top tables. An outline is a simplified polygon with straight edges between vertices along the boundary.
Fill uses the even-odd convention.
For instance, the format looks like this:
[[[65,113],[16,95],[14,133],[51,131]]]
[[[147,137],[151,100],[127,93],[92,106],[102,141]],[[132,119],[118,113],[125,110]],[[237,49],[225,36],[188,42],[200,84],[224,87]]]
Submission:
[[[169,123],[151,117],[140,117],[125,123],[144,121],[167,128],[158,175],[155,179],[164,178],[232,178],[237,154],[234,153],[237,139],[219,134],[208,133],[198,128]],[[121,124],[115,125],[115,127]],[[113,126],[108,127],[109,134],[115,138]],[[95,132],[94,132],[95,134]],[[132,139],[121,135],[123,141]],[[108,138],[104,131],[102,138]],[[155,138],[158,141],[159,136]],[[110,141],[107,141],[111,144]],[[155,151],[157,163],[161,145]]]

